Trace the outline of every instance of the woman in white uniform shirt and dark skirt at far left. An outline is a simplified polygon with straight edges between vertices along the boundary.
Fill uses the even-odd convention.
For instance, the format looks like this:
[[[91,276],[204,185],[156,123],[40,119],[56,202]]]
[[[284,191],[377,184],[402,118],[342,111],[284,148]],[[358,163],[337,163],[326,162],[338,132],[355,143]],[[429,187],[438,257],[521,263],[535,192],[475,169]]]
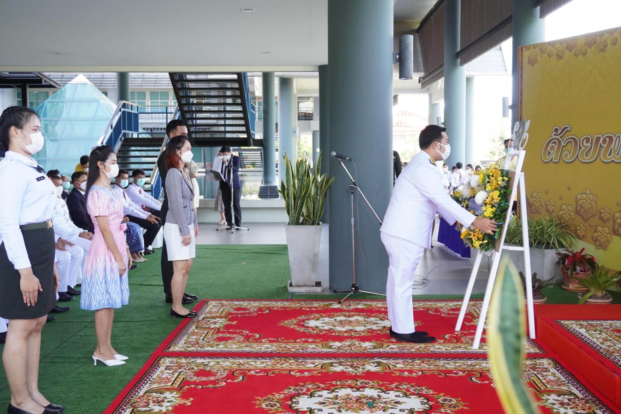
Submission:
[[[31,157],[43,148],[40,128],[37,114],[25,107],[9,107],[0,117],[0,317],[9,320],[2,354],[11,388],[8,414],[65,411],[38,385],[41,330],[59,282],[54,184]]]

